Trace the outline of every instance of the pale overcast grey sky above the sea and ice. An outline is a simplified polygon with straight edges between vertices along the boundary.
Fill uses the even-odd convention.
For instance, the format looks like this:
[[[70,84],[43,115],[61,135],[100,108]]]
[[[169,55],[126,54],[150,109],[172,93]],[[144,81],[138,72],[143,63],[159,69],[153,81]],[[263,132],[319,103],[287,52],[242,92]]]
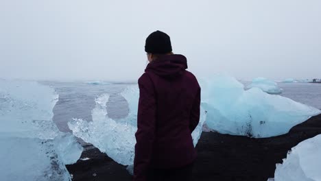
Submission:
[[[197,77],[321,78],[320,0],[0,0],[0,77],[136,81],[156,30]]]

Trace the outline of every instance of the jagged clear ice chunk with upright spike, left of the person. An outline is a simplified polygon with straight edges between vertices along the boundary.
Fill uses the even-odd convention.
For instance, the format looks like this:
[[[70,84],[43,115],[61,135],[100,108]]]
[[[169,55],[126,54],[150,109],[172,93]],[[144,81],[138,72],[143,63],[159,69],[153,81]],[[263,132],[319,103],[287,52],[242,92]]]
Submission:
[[[92,110],[93,121],[75,119],[68,123],[69,128],[75,136],[93,144],[116,162],[132,165],[137,128],[130,123],[110,119],[106,110],[108,99],[107,94],[96,99],[96,106]]]

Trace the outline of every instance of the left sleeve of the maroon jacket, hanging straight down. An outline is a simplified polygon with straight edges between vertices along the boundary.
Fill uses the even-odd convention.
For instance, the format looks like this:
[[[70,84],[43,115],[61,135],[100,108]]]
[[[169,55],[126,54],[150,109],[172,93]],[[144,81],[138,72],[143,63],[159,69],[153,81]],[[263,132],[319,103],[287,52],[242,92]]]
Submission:
[[[139,78],[139,108],[137,114],[137,132],[134,181],[146,180],[150,166],[156,124],[156,99],[154,85],[145,73]]]

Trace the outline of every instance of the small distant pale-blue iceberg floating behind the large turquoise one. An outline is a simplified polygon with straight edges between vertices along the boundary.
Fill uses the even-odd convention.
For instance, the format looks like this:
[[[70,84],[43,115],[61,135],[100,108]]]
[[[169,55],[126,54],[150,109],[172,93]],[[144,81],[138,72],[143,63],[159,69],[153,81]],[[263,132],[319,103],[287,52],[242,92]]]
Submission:
[[[272,80],[268,80],[263,77],[257,77],[252,80],[252,83],[247,86],[247,88],[261,88],[265,93],[270,93],[270,94],[281,94],[282,93],[282,88],[278,87],[278,84]]]

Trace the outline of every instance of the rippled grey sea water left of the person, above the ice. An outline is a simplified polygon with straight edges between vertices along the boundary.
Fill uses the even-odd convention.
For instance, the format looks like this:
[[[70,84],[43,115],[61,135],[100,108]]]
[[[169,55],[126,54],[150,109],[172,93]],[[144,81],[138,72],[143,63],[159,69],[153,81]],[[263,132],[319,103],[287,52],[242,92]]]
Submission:
[[[128,103],[119,93],[130,84],[88,84],[84,82],[40,82],[55,88],[59,100],[53,108],[53,122],[62,132],[71,132],[68,121],[73,118],[92,121],[91,110],[95,98],[104,93],[110,95],[108,116],[121,119],[128,115]]]

